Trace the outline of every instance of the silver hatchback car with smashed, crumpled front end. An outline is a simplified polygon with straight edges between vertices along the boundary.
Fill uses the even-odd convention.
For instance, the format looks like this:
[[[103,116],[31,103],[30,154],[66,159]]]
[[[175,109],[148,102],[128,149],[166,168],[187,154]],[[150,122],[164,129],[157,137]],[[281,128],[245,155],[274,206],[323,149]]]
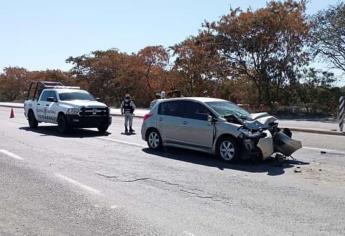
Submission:
[[[142,138],[150,149],[163,146],[217,154],[224,161],[290,156],[301,148],[289,130],[267,113],[250,114],[226,100],[184,97],[157,100],[145,115]]]

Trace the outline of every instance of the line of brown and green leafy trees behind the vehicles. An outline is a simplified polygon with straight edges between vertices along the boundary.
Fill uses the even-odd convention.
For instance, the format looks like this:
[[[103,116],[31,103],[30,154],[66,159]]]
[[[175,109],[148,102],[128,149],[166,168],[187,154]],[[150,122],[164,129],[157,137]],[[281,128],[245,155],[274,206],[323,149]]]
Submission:
[[[30,81],[54,80],[89,90],[109,105],[130,93],[147,107],[159,91],[211,96],[276,111],[298,106],[308,113],[336,113],[345,88],[312,67],[330,64],[345,72],[345,5],[306,14],[306,2],[270,1],[257,10],[230,9],[205,21],[199,33],[171,47],[147,46],[69,57],[70,71],[8,67],[0,74],[0,100],[23,101]],[[344,82],[344,81],[343,81]]]

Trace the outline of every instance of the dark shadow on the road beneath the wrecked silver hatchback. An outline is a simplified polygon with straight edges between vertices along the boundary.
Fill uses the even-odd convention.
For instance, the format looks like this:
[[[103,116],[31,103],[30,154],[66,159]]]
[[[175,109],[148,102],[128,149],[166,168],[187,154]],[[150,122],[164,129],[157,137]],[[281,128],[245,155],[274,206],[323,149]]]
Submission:
[[[189,162],[197,165],[216,167],[220,170],[233,169],[252,173],[267,173],[267,175],[270,176],[282,175],[285,173],[285,169],[293,168],[295,166],[309,165],[308,162],[298,160],[278,161],[274,158],[270,158],[265,161],[238,160],[234,163],[226,163],[211,154],[172,147],[165,148],[165,150],[162,151],[152,151],[148,148],[144,148],[143,151],[145,153],[157,155],[164,158]]]

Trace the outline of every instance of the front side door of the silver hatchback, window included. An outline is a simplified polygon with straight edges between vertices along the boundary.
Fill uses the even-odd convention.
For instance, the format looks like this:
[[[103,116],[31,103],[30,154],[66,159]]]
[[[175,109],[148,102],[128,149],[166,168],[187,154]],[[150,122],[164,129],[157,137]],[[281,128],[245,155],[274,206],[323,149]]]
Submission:
[[[214,125],[208,122],[208,116],[212,115],[212,112],[196,101],[186,101],[183,108],[181,141],[195,148],[211,149]]]

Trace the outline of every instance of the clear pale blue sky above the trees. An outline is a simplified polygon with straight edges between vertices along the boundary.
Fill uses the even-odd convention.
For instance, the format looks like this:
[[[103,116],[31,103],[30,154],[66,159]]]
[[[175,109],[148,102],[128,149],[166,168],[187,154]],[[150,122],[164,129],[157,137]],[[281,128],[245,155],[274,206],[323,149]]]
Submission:
[[[312,0],[308,13],[336,4]],[[0,0],[0,70],[70,69],[69,56],[118,48],[128,53],[148,45],[171,46],[195,35],[231,7],[256,9],[248,0]]]

